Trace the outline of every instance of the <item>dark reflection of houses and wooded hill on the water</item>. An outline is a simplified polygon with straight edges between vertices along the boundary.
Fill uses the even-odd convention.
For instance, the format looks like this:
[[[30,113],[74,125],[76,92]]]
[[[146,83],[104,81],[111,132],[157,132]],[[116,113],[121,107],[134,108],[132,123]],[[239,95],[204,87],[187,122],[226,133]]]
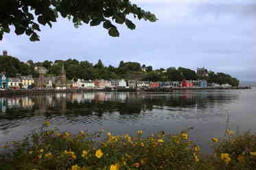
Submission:
[[[221,108],[237,98],[237,94],[226,95],[214,91],[183,91],[174,94],[60,93],[0,98],[0,129],[13,127],[19,120],[38,115],[64,115],[67,119],[83,116],[82,119],[86,120],[89,115],[102,117],[104,114],[118,113],[132,115],[130,119],[135,119],[141,114],[150,115],[150,111],[162,111],[168,119],[205,119],[218,115],[216,107]],[[120,118],[126,121],[129,119],[127,116]]]

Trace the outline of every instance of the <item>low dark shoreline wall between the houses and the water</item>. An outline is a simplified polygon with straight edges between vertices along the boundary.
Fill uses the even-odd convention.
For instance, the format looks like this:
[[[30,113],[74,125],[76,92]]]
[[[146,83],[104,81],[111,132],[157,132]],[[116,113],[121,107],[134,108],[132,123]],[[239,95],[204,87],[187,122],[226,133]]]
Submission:
[[[209,89],[252,89],[251,87],[174,87],[173,91],[140,91],[136,89],[16,89],[0,91],[0,96],[16,96],[22,94],[54,94],[79,92],[137,92],[137,93],[172,93],[180,90],[209,90]]]

